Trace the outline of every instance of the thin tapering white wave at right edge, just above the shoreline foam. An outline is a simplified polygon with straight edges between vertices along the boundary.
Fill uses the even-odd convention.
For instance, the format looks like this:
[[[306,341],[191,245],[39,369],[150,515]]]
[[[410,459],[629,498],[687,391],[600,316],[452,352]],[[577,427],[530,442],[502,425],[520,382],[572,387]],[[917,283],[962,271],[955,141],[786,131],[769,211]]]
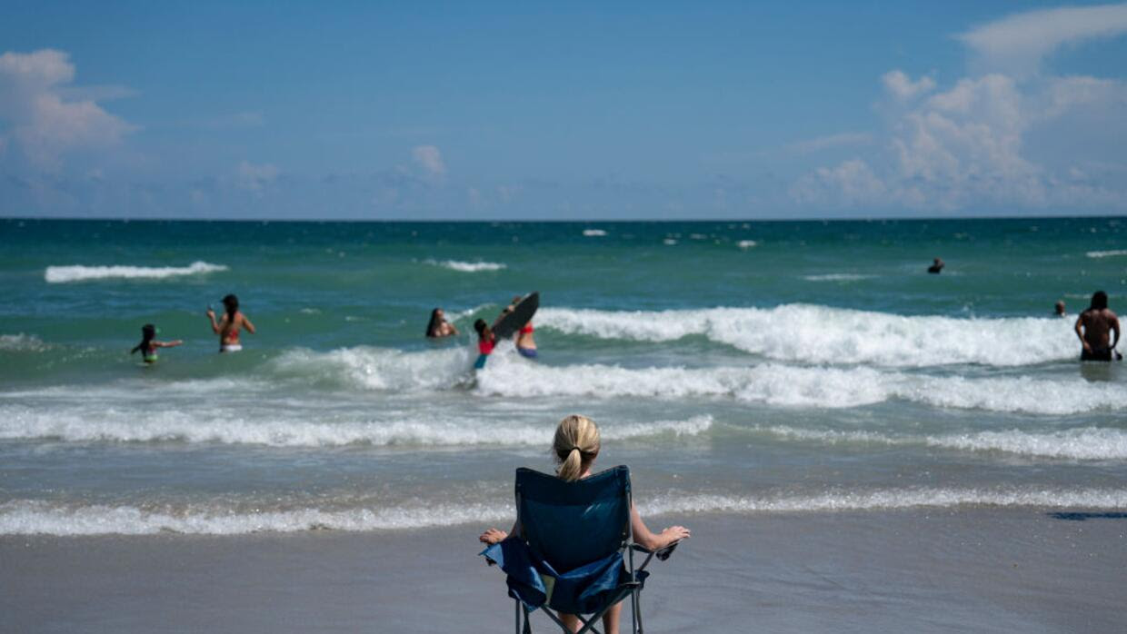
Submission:
[[[774,426],[762,430],[783,438],[814,440],[824,444],[926,445],[947,449],[1001,452],[1046,458],[1127,459],[1127,431],[1095,427],[1044,432],[1010,429],[938,436],[902,436],[860,430],[814,430],[789,426]]]

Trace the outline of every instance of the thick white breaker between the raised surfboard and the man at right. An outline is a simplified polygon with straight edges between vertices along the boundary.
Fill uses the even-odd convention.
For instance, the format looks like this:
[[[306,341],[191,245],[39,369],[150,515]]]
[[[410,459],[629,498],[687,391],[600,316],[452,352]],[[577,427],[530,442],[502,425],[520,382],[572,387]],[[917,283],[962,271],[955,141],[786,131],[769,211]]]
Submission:
[[[799,363],[1020,366],[1070,360],[1079,354],[1072,324],[1065,320],[903,316],[806,304],[669,311],[545,307],[536,313],[536,325],[633,341],[696,334]]]

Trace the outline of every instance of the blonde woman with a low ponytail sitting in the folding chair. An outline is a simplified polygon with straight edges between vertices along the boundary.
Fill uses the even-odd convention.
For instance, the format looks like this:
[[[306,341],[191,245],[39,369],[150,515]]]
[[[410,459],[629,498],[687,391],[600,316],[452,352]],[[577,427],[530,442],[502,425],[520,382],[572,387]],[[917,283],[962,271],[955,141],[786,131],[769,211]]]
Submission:
[[[600,440],[598,427],[595,421],[583,416],[569,416],[560,421],[556,428],[556,439],[552,441],[552,455],[559,467],[556,475],[568,482],[583,480],[591,475],[591,470],[598,457]],[[689,537],[689,529],[684,526],[671,526],[660,533],[653,533],[641,520],[638,509],[630,508],[630,528],[633,532],[635,543],[656,551],[664,548],[677,539]],[[516,526],[513,527],[516,530]],[[478,539],[486,544],[497,544],[508,537],[508,533],[497,528],[490,528],[481,534]],[[622,604],[618,604],[603,615],[603,632],[606,634],[618,634],[619,616],[622,613]],[[579,629],[579,618],[571,614],[560,614],[560,619],[573,631]]]

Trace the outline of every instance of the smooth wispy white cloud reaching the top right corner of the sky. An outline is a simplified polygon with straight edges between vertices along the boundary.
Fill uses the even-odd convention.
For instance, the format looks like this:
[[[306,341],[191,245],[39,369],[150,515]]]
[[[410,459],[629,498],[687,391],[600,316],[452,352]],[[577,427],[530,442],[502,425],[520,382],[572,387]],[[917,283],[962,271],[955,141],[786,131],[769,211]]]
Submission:
[[[1035,72],[1057,48],[1127,33],[1127,3],[1062,7],[1015,14],[957,36],[987,65],[1011,74]]]

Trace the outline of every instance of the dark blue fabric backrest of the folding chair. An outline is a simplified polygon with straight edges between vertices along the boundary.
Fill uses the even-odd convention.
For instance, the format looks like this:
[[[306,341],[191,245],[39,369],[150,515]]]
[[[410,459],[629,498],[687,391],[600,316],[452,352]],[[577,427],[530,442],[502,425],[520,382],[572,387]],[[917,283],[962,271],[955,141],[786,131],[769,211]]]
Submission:
[[[516,516],[529,547],[560,573],[605,557],[629,537],[630,470],[565,482],[518,468]]]

